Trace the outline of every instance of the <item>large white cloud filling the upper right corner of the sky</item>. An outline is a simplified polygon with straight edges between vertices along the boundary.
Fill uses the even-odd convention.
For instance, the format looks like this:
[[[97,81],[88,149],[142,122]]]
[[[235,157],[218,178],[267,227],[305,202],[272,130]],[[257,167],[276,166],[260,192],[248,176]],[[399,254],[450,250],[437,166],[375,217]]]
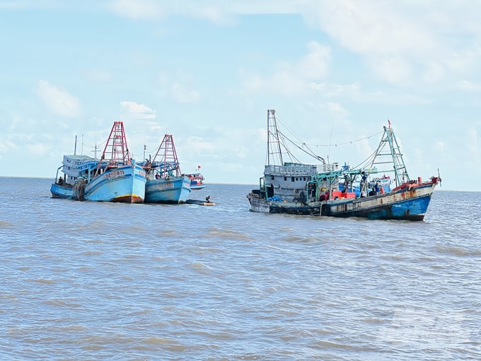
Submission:
[[[391,84],[439,84],[479,72],[480,6],[468,1],[306,1],[306,21]],[[468,35],[468,36],[466,36]]]

